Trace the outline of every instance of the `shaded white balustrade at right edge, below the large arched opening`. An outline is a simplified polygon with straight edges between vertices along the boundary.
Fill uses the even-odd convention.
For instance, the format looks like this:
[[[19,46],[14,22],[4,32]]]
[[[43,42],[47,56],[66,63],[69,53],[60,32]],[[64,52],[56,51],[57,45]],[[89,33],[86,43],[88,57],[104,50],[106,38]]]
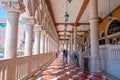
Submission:
[[[103,45],[99,50],[101,69],[120,78],[120,45]]]

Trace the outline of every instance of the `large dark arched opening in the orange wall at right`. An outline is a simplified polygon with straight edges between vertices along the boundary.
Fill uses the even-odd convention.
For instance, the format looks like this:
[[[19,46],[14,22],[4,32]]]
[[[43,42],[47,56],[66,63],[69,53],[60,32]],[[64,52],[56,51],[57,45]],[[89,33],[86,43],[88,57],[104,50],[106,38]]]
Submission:
[[[112,19],[109,23],[106,36],[108,44],[117,45],[120,44],[120,20],[119,19]]]

